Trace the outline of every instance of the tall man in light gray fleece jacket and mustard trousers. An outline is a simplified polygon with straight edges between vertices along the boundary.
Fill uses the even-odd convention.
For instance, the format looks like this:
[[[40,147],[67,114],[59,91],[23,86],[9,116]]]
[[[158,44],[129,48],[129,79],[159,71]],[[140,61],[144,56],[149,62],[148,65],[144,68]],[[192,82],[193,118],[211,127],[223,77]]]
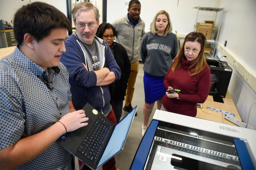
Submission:
[[[139,15],[141,14],[141,3],[138,0],[131,0],[128,6],[128,14],[115,20],[112,25],[118,31],[116,41],[125,47],[130,63],[131,73],[127,83],[125,106],[123,110],[130,112],[133,107],[131,100],[133,99],[134,84],[139,72],[139,48],[141,40],[145,34],[145,23]],[[135,116],[137,115],[137,112]]]

